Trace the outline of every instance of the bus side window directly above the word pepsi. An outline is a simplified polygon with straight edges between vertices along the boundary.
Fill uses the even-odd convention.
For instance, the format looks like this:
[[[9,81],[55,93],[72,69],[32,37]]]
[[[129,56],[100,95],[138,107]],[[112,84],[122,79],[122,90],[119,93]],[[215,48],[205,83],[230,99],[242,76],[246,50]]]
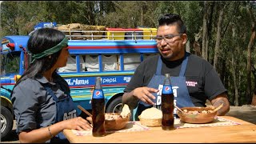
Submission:
[[[120,70],[118,66],[118,56],[116,54],[102,55],[103,71]]]

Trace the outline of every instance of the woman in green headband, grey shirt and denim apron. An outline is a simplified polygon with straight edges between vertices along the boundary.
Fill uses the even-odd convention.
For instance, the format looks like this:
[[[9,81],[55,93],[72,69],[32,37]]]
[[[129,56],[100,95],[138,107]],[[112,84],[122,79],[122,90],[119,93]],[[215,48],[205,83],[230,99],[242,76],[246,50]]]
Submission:
[[[77,117],[66,81],[56,73],[66,66],[68,40],[59,30],[35,30],[27,48],[34,60],[14,86],[11,101],[20,142],[68,142],[64,129],[91,130]]]

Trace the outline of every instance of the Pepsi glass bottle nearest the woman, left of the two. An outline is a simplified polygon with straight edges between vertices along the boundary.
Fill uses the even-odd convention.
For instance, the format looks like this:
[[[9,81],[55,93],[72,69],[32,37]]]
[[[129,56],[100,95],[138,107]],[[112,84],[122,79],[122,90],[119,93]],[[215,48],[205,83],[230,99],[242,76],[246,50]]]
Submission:
[[[105,99],[101,85],[101,78],[96,78],[94,93],[91,99],[93,115],[93,136],[102,137],[106,135],[105,130]]]

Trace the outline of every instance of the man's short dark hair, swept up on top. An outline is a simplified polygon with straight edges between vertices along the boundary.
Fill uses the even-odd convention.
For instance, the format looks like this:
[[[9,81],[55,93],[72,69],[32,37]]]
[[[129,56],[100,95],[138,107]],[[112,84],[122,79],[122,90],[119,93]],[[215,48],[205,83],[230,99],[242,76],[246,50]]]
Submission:
[[[164,14],[159,19],[159,26],[174,25],[176,24],[180,34],[186,34],[186,26],[184,25],[182,18],[178,14]]]

